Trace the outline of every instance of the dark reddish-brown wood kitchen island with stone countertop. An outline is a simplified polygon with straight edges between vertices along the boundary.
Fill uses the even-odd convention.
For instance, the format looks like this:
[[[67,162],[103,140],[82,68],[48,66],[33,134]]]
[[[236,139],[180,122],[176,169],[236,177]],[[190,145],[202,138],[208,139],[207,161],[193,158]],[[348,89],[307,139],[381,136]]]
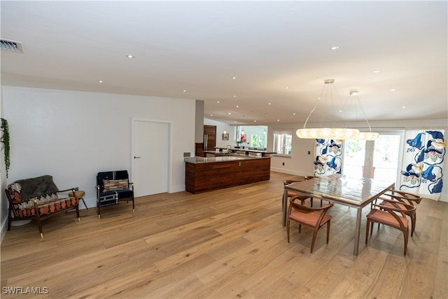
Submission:
[[[267,181],[270,177],[270,157],[229,154],[185,158],[185,162],[185,186],[193,194]]]

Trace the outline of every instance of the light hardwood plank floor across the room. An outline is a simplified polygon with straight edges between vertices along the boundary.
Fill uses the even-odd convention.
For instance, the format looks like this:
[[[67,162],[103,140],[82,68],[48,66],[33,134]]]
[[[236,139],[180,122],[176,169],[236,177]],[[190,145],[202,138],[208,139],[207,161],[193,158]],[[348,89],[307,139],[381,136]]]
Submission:
[[[1,243],[5,287],[20,298],[448,298],[448,203],[423,200],[402,255],[401,232],[376,227],[353,256],[356,211],[335,204],[309,253],[311,230],[281,225],[283,180],[192,195],[182,192],[61,214],[13,227]],[[316,202],[316,201],[315,201]],[[365,208],[364,214],[367,213]]]

